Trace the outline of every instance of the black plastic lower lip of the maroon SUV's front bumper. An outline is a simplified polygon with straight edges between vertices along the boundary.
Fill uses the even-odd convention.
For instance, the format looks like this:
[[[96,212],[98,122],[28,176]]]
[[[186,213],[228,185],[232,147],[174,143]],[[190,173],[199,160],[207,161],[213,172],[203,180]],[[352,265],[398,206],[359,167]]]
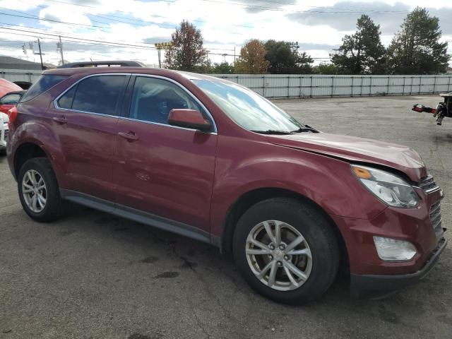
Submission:
[[[392,295],[424,278],[438,262],[447,240],[441,238],[424,267],[415,273],[401,275],[350,275],[350,290],[354,297],[381,298]]]

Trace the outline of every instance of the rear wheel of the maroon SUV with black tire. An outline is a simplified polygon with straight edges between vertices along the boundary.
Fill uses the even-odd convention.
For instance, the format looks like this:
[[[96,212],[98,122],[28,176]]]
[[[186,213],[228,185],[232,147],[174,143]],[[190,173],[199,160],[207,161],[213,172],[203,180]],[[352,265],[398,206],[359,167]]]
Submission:
[[[47,157],[34,157],[20,167],[18,192],[23,209],[33,220],[49,222],[64,213],[57,177]]]

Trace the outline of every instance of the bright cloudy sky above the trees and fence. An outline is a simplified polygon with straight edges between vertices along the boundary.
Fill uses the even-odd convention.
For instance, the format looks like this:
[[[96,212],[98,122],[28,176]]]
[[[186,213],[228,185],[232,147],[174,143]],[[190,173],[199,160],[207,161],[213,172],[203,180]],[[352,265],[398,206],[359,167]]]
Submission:
[[[213,62],[233,62],[240,47],[256,38],[298,42],[299,52],[319,64],[355,31],[362,14],[381,25],[387,46],[416,6],[437,16],[442,40],[452,42],[451,0],[0,0],[0,55],[39,62],[40,38],[44,63],[58,64],[61,36],[67,61],[127,59],[157,66],[155,42],[169,42],[177,25],[189,20],[201,30]]]

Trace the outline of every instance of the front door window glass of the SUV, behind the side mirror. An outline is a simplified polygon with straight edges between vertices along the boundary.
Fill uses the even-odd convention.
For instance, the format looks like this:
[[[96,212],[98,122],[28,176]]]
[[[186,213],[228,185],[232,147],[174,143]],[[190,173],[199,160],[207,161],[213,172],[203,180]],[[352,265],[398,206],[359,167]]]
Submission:
[[[175,108],[203,112],[193,98],[174,83],[144,76],[136,78],[129,114],[131,119],[168,124],[169,111]]]

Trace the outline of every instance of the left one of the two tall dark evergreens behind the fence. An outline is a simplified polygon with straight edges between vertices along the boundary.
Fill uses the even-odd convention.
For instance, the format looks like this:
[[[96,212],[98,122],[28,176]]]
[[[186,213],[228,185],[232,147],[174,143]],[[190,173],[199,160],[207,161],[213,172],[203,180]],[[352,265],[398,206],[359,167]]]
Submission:
[[[385,48],[380,40],[380,25],[362,15],[356,27],[355,34],[343,37],[343,44],[331,56],[331,61],[346,74],[384,73]]]

